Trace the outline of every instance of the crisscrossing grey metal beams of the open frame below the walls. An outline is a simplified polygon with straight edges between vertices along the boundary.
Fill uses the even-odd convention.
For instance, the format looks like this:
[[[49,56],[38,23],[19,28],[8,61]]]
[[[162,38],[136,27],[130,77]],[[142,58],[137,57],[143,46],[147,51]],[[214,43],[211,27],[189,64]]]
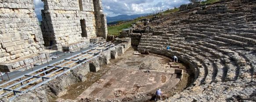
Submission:
[[[11,85],[9,85],[9,86],[7,86],[5,88],[0,88],[0,91],[2,91],[2,90],[8,91],[8,92],[2,94],[1,96],[5,96],[5,95],[13,92],[14,96],[10,98],[10,100],[12,100],[13,98],[17,97],[21,93],[24,93],[24,92],[27,92],[27,91],[32,90],[34,88],[37,88],[38,86],[40,86],[42,84],[45,84],[48,81],[50,81],[50,80],[52,80],[52,79],[54,79],[54,78],[56,78],[56,77],[58,77],[58,76],[60,76],[60,75],[62,75],[64,73],[68,72],[69,70],[72,70],[72,69],[82,65],[83,63],[87,63],[89,60],[99,56],[99,52],[101,52],[101,51],[103,51],[105,49],[109,49],[109,46],[113,46],[113,45],[114,44],[110,44],[110,42],[90,44],[90,46],[89,46],[90,48],[87,49],[87,50],[82,50],[83,49],[82,48],[79,52],[74,52],[74,53],[71,52],[72,54],[70,53],[70,55],[66,55],[68,57],[65,57],[65,59],[55,61],[54,63],[48,64],[48,65],[45,65],[45,66],[43,66],[41,68],[35,69],[33,71],[30,71],[27,74],[21,75],[19,77],[15,77],[15,78],[11,79],[10,81],[7,81],[7,82],[5,82],[3,84],[0,84],[0,86],[3,86],[3,85],[8,84],[8,83],[10,83],[12,81],[16,81],[16,80],[20,79],[20,81],[15,82],[14,84],[11,84]],[[96,49],[98,46],[102,46],[102,47],[104,46],[105,48],[103,48],[103,49],[102,48],[101,49]],[[95,53],[93,53],[93,52],[95,52]],[[88,54],[90,54],[90,55],[86,56]],[[77,57],[75,57],[75,56],[77,56]],[[84,57],[84,56],[86,56],[86,57]],[[75,58],[73,58],[73,57],[75,57]],[[58,59],[61,59],[61,57],[58,58]],[[63,62],[63,61],[65,61],[65,62]],[[74,61],[74,62],[69,63],[71,61]],[[69,63],[69,64],[65,65],[64,67],[60,67],[61,65],[64,65],[65,63]],[[58,65],[54,66],[55,64],[58,64]],[[74,64],[74,66],[69,67],[69,66],[71,66],[73,64]],[[37,65],[37,66],[39,66],[39,65]],[[47,68],[47,67],[50,67],[50,68],[45,70],[45,68]],[[53,70],[54,68],[58,68],[58,69]],[[48,74],[45,74],[49,70],[53,70],[53,71],[48,73]],[[47,77],[47,76],[49,76],[51,74],[54,74],[55,72],[58,72],[60,70],[64,70],[64,71],[59,73],[59,74],[57,74],[57,75],[54,75],[53,77]],[[40,73],[32,75],[33,73],[38,72],[38,71],[40,71]],[[40,74],[44,74],[44,76],[39,76]],[[22,77],[26,77],[26,78],[21,80]],[[21,84],[21,86],[19,86],[18,88],[15,88],[14,90],[10,89],[11,87],[13,87],[13,86],[15,86],[17,84],[23,83],[23,82],[25,82],[27,80],[31,80],[33,78],[36,78],[36,79],[34,79],[34,80],[32,80],[32,81],[30,81],[30,82],[28,82],[26,84]],[[19,89],[24,88],[24,87],[28,86],[29,84],[32,84],[32,83],[34,83],[36,81],[39,81],[40,79],[42,79],[42,82],[40,82],[39,84],[35,84],[35,86],[33,86],[32,88],[25,89],[25,91],[18,91]]]

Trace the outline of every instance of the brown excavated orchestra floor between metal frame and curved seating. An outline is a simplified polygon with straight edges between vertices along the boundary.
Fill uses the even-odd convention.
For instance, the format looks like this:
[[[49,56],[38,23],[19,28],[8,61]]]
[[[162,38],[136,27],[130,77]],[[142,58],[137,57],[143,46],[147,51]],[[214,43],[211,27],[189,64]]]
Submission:
[[[151,96],[147,98],[146,93],[170,81],[175,68],[168,64],[168,57],[156,54],[134,55],[134,52],[130,48],[119,58],[110,60],[111,63],[97,73],[89,72],[87,81],[72,84],[66,88],[68,93],[56,101],[150,101]],[[188,67],[182,63],[175,65],[184,69],[183,79],[180,82],[179,79],[173,80],[175,87],[164,90],[164,98],[181,92],[194,80],[194,74]]]

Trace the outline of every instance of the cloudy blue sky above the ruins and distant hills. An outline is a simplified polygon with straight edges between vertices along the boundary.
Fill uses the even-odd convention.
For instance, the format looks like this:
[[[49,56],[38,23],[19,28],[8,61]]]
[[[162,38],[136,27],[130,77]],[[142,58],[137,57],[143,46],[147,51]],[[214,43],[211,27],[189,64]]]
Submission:
[[[41,0],[34,2],[36,14],[41,14],[43,2]],[[189,0],[102,0],[103,12],[110,17],[120,14],[150,14],[188,3]]]

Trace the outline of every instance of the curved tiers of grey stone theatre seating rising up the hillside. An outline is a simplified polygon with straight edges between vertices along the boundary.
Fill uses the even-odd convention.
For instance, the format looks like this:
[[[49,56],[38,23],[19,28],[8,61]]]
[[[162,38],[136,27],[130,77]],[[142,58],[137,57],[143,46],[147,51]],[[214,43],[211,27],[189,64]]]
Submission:
[[[242,0],[234,1],[244,3]],[[167,33],[144,34],[141,37],[138,50],[178,56],[180,61],[194,70],[194,82],[171,97],[171,102],[193,99],[214,101],[232,97],[235,100],[243,95],[249,98],[253,93],[250,90],[252,87],[241,85],[256,82],[256,13],[236,9],[237,5],[216,4],[203,9],[204,13],[187,18],[182,15],[184,19],[180,19],[179,15],[170,16],[169,19],[177,18],[175,23],[153,21],[152,24],[157,24],[156,31]],[[253,7],[256,4],[249,5]],[[171,49],[166,49],[167,46]]]

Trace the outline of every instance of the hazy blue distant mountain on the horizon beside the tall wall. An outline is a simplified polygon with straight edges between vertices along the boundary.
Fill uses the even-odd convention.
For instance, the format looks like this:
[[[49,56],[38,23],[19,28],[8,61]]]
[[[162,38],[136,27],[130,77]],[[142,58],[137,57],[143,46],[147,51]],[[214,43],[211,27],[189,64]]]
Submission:
[[[107,22],[113,22],[113,21],[126,21],[126,20],[133,20],[134,18],[138,18],[141,16],[145,16],[147,14],[133,14],[133,15],[127,15],[122,14],[115,17],[107,17]]]

